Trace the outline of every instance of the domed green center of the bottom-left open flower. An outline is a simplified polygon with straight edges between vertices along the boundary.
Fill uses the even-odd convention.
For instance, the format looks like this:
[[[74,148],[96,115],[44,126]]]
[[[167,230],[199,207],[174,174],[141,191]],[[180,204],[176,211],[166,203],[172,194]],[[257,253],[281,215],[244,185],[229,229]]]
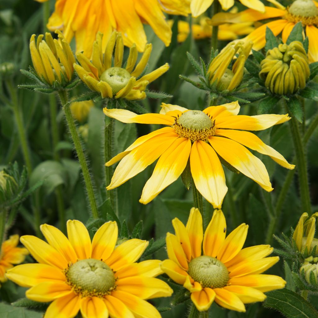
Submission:
[[[115,288],[112,269],[99,259],[81,259],[65,272],[67,283],[82,297],[110,294]]]

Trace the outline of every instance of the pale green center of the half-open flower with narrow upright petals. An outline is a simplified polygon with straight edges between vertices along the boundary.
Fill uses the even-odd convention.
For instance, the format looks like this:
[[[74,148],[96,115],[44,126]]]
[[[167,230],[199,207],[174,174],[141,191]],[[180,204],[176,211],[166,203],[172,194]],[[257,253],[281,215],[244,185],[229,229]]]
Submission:
[[[130,73],[121,67],[111,67],[100,75],[100,80],[108,83],[115,94],[127,85],[130,78]]]

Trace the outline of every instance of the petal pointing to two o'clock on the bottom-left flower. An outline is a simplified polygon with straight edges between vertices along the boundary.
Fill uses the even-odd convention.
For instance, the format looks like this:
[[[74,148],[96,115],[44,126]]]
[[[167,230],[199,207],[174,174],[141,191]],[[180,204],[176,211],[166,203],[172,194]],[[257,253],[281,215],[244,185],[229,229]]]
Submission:
[[[149,242],[141,239],[129,239],[114,249],[105,263],[114,271],[118,271],[121,267],[134,263],[141,256]]]

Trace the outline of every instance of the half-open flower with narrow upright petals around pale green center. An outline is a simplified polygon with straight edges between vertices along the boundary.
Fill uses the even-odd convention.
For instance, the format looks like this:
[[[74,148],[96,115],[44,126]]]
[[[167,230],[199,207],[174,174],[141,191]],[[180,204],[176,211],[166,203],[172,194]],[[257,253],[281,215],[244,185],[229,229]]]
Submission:
[[[144,92],[146,86],[168,71],[168,63],[137,80],[136,78],[142,74],[148,63],[152,45],[146,45],[145,52],[136,66],[138,52],[136,46],[133,45],[129,51],[126,67],[123,68],[124,45],[121,33],[113,32],[107,43],[104,55],[102,38],[103,35],[99,32],[93,44],[92,61],[87,59],[83,53],[79,53],[76,56],[81,64],[81,66],[74,64],[79,78],[91,90],[100,92],[102,98],[114,97],[115,99],[126,98],[128,100],[146,98],[146,93]],[[112,65],[114,47],[114,64]]]

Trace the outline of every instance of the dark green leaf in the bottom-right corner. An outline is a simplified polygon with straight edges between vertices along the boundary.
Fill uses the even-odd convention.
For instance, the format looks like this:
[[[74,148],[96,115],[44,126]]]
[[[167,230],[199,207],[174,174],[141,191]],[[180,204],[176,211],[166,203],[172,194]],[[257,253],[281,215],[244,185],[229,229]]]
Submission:
[[[278,310],[289,318],[318,318],[316,309],[304,298],[289,289],[266,293],[263,305]]]

